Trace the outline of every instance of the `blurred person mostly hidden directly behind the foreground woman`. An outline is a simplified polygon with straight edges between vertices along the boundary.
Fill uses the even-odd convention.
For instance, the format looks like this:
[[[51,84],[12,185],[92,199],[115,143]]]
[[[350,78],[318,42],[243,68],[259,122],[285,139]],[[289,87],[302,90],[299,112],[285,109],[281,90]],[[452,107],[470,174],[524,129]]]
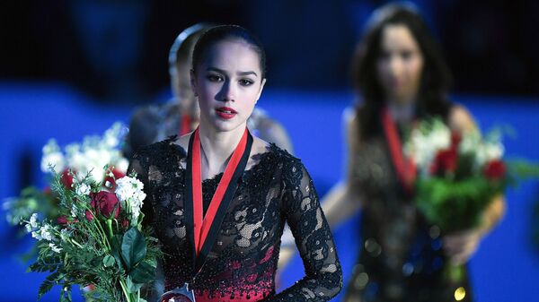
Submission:
[[[162,105],[150,105],[135,111],[124,146],[126,157],[130,158],[142,146],[171,135],[188,134],[199,125],[199,107],[190,89],[191,53],[197,39],[211,26],[210,23],[197,23],[181,31],[174,40],[169,53],[172,99]],[[255,136],[294,152],[285,128],[262,109],[255,108],[247,125]]]

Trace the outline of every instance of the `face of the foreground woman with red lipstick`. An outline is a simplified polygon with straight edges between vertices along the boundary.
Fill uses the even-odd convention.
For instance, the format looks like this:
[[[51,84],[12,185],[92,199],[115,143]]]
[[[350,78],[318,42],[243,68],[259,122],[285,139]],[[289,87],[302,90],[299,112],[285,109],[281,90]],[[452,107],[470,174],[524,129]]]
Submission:
[[[259,55],[241,39],[225,39],[209,47],[204,60],[191,72],[199,96],[200,123],[218,131],[245,125],[261,96]]]

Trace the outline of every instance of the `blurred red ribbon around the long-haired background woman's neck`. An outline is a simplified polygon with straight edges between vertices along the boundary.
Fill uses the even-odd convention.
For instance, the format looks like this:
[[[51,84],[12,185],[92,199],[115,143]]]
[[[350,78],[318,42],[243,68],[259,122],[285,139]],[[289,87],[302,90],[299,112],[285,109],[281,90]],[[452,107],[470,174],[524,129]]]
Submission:
[[[417,174],[417,167],[413,160],[406,158],[402,153],[402,143],[397,132],[397,126],[393,122],[393,118],[387,108],[382,109],[381,117],[385,138],[389,146],[391,160],[397,172],[397,177],[399,177],[406,192],[411,194],[413,191],[413,182]]]

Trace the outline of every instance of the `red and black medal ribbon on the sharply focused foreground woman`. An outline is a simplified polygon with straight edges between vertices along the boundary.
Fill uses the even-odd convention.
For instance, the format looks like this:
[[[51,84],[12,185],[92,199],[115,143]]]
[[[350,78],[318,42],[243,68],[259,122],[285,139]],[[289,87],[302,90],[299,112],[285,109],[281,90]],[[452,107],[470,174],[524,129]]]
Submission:
[[[192,200],[193,200],[193,220],[194,220],[194,241],[196,254],[199,255],[206,237],[208,237],[209,229],[216,218],[216,212],[219,209],[219,205],[223,201],[226,189],[230,185],[230,181],[234,176],[235,170],[238,168],[240,161],[243,158],[243,153],[247,145],[247,138],[249,131],[245,128],[242,139],[236,146],[232,157],[226,164],[225,173],[219,181],[216,193],[211,198],[208,211],[204,217],[202,208],[202,176],[201,176],[201,161],[200,161],[200,137],[199,128],[195,130],[194,140],[192,144]],[[244,167],[243,167],[244,168]]]

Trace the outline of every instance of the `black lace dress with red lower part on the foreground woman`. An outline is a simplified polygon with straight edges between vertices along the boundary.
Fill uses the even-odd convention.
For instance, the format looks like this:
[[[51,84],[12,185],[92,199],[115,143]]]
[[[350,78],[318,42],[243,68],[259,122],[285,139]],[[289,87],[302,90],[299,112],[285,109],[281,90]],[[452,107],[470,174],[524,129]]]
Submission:
[[[165,140],[134,156],[131,169],[137,171],[147,194],[143,211],[165,253],[165,289],[190,282],[197,302],[330,300],[340,291],[342,274],[311,177],[300,160],[274,144],[253,159],[257,163],[240,177],[213,246],[195,276],[193,231],[184,207],[186,152]],[[221,177],[203,181],[204,211]],[[276,294],[275,272],[286,221],[305,264],[305,278]]]

